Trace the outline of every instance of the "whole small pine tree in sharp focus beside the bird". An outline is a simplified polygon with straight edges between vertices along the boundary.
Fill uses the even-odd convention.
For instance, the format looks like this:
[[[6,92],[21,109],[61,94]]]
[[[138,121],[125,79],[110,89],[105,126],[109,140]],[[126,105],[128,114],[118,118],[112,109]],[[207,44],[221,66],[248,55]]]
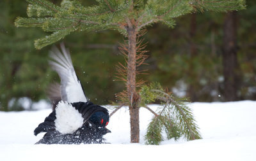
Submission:
[[[121,67],[118,69],[120,78],[125,81],[127,87],[127,90],[122,92],[120,96],[122,97],[122,101],[125,101],[129,106],[131,116],[131,143],[138,143],[140,141],[139,109],[141,95],[138,92],[140,90],[136,87],[143,85],[143,81],[136,81],[136,74],[141,73],[141,71],[137,71],[138,66],[143,64],[146,58],[143,55],[145,52],[142,51],[145,45],[141,45],[141,41],[138,39],[141,35],[140,31],[148,25],[158,22],[173,27],[175,25],[175,18],[189,13],[195,13],[196,11],[231,11],[245,8],[244,0],[97,0],[97,5],[88,7],[82,6],[79,1],[63,0],[60,6],[47,0],[27,1],[29,3],[27,11],[29,18],[18,17],[15,20],[15,25],[17,27],[41,27],[45,32],[52,33],[49,36],[45,36],[45,38],[35,41],[35,47],[38,49],[55,43],[72,32],[80,31],[111,29],[119,31],[127,38],[128,43],[123,46],[127,66],[120,64]],[[156,93],[154,90],[150,90],[150,92]],[[157,94],[161,94],[162,92],[158,92]],[[172,97],[166,98],[166,106],[170,106],[170,101],[172,100]],[[191,131],[194,129],[195,134],[198,132],[196,126],[190,126],[190,123],[193,123],[193,118],[190,117],[191,113],[188,111],[188,108],[185,108],[186,106],[184,106],[182,101],[175,106],[177,106],[177,110],[179,111],[179,113],[176,111],[179,115],[175,117],[183,120],[179,129],[190,131],[189,139],[199,138],[199,136],[193,137],[193,134],[191,134]],[[185,115],[188,116],[185,117]],[[163,123],[167,123],[162,121],[166,120],[162,118],[165,118],[165,115],[154,119],[153,122],[155,123],[152,123],[152,125],[156,125],[157,123],[163,125]],[[171,123],[172,120],[170,120],[169,124]],[[173,127],[176,127],[175,122],[173,123]],[[166,127],[170,127],[170,125],[166,124]],[[192,127],[193,129],[189,130]],[[151,129],[154,130],[154,128]],[[170,128],[166,129],[171,137],[173,132]],[[161,131],[161,129],[158,130]],[[189,134],[189,132],[185,132],[184,134]],[[154,143],[159,143],[159,140],[161,140],[161,137]]]

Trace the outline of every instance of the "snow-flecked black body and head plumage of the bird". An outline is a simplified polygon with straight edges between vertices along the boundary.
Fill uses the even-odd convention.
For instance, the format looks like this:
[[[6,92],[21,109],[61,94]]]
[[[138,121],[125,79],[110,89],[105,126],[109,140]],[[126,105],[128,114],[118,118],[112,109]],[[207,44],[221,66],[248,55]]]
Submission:
[[[61,134],[55,127],[56,112],[54,110],[34,130],[35,135],[41,132],[47,132],[36,144],[102,143],[103,136],[110,132],[110,130],[106,129],[106,125],[109,122],[108,110],[89,101],[74,102],[71,104],[82,114],[84,118],[83,126],[73,134]]]

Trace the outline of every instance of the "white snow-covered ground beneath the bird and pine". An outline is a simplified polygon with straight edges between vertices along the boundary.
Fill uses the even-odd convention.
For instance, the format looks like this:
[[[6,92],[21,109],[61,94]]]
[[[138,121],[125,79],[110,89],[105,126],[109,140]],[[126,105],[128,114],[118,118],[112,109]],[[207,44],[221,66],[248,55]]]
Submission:
[[[157,105],[151,105],[156,109]],[[140,144],[129,143],[129,111],[122,108],[109,121],[111,144],[34,144],[44,134],[33,130],[51,109],[0,112],[0,160],[256,160],[256,101],[190,104],[204,139],[145,145],[152,113],[140,109]]]

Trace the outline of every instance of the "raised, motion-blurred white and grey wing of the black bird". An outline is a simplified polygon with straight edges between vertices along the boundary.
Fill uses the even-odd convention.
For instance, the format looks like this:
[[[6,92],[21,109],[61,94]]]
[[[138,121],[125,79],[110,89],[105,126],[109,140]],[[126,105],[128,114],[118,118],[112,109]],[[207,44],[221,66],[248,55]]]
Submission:
[[[61,43],[61,52],[54,46],[50,52],[49,64],[61,79],[61,99],[67,102],[87,102],[83,87],[76,76],[70,53]]]

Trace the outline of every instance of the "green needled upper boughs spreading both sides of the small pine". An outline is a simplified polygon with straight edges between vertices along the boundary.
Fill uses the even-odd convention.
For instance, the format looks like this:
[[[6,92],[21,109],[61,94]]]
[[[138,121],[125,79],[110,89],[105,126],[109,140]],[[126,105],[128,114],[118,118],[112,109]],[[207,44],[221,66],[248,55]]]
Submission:
[[[60,6],[48,0],[26,1],[29,3],[27,13],[30,18],[18,17],[15,25],[42,27],[46,32],[54,32],[52,36],[36,40],[36,48],[56,42],[57,37],[64,38],[70,27],[79,32],[111,29],[127,36],[128,19],[138,23],[134,24],[137,31],[140,31],[157,22],[173,27],[174,18],[195,11],[231,11],[245,8],[244,0],[97,0],[97,5],[87,7],[76,0],[63,0]]]

